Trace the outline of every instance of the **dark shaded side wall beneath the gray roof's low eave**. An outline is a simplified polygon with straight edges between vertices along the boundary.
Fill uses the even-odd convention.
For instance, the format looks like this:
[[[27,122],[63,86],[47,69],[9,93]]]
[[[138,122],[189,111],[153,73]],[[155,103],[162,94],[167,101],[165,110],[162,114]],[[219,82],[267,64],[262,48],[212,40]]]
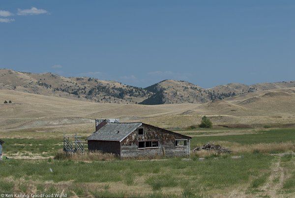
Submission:
[[[105,153],[120,155],[120,142],[88,140],[88,150],[100,150]]]

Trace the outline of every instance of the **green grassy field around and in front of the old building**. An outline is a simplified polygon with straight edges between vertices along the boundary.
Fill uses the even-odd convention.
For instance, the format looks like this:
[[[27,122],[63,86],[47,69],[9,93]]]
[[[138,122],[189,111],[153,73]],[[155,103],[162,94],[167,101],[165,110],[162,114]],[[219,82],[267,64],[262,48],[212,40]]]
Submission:
[[[295,156],[269,154],[294,152],[294,133],[295,128],[289,128],[252,134],[193,137],[191,148],[214,142],[231,150],[240,150],[228,155],[192,153],[190,160],[181,157],[158,158],[157,161],[119,161],[114,157],[109,161],[12,159],[0,163],[0,193],[12,193],[15,184],[25,192],[25,186],[30,182],[47,194],[63,190],[69,194],[73,190],[78,195],[90,192],[96,197],[124,197],[127,194],[127,197],[150,198],[291,198],[295,196]],[[57,155],[62,148],[61,138],[2,140],[5,141],[4,156],[6,151],[11,156],[17,152],[26,155],[29,151],[49,157]],[[233,155],[241,158],[233,159]],[[205,160],[199,160],[204,156]]]

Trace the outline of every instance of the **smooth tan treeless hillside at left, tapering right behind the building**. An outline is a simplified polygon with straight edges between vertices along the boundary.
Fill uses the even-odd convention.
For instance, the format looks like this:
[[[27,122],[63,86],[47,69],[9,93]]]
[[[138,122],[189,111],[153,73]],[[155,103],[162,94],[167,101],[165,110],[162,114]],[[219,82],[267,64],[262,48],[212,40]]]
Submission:
[[[144,121],[180,114],[193,104],[139,105],[96,103],[0,90],[0,130],[94,122],[95,118],[119,118],[121,122]]]

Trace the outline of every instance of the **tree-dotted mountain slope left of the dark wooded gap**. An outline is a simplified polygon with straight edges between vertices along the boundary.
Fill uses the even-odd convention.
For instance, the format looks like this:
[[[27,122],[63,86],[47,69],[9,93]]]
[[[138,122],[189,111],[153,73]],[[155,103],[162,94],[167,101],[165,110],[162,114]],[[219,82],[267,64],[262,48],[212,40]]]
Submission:
[[[0,69],[0,89],[99,103],[138,103],[152,93],[141,88],[88,77]]]

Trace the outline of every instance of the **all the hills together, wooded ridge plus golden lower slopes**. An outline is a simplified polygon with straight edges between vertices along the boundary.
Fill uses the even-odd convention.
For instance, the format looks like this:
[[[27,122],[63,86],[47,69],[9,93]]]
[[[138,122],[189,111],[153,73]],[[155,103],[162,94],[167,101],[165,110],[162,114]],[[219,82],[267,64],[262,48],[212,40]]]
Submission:
[[[294,124],[294,83],[204,89],[185,81],[164,80],[142,89],[116,81],[0,69],[0,130],[62,125],[68,131],[69,126],[89,123],[71,130],[92,131],[95,118],[174,129],[196,125],[204,115],[215,126]],[[163,104],[139,104],[152,97]]]

